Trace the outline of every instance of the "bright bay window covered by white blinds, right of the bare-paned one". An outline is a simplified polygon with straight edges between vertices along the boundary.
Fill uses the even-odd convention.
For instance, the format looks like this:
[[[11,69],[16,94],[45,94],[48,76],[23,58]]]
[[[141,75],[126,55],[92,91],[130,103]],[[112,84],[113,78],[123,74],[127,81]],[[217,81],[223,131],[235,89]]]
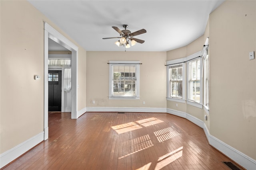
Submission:
[[[188,100],[200,103],[200,58],[188,62]]]

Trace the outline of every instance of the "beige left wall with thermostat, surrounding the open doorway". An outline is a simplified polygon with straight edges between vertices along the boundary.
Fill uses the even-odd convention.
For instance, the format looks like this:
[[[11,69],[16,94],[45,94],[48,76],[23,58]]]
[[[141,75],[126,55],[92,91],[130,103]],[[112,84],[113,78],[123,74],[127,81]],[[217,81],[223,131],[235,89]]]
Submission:
[[[3,153],[44,131],[43,21],[69,37],[27,1],[1,0],[0,17],[0,152]],[[78,48],[79,109],[86,107],[86,78],[82,75],[86,73],[86,51]],[[34,80],[34,74],[40,75],[41,80]]]

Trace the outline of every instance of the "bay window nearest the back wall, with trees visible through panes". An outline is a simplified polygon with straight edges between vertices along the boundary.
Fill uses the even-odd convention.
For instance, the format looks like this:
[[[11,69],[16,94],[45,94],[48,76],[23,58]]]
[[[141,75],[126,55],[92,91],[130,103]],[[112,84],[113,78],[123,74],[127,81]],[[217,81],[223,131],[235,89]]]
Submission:
[[[182,64],[169,66],[169,97],[182,99]]]

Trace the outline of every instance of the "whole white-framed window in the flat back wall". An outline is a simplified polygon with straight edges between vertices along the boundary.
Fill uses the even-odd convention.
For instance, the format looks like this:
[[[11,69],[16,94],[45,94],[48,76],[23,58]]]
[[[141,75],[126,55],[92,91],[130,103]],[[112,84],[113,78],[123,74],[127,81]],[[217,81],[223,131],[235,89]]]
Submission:
[[[109,98],[139,99],[140,65],[137,63],[138,61],[110,61]]]

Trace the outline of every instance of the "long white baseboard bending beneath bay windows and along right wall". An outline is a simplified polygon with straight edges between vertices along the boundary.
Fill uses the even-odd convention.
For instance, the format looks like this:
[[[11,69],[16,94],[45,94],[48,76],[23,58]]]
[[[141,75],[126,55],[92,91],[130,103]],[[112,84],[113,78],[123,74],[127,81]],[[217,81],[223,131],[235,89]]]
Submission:
[[[183,118],[188,119],[194,124],[204,129],[204,133],[206,138],[212,147],[218,149],[220,152],[228,156],[230,159],[234,160],[240,166],[246,168],[247,170],[256,170],[256,160],[250,158],[249,156],[243,154],[239,150],[234,149],[233,147],[227,145],[226,143],[220,141],[216,137],[210,135],[208,128],[206,127],[204,121],[182,111],[177,111],[173,109],[166,109],[166,113],[170,113],[172,115],[177,115]]]

